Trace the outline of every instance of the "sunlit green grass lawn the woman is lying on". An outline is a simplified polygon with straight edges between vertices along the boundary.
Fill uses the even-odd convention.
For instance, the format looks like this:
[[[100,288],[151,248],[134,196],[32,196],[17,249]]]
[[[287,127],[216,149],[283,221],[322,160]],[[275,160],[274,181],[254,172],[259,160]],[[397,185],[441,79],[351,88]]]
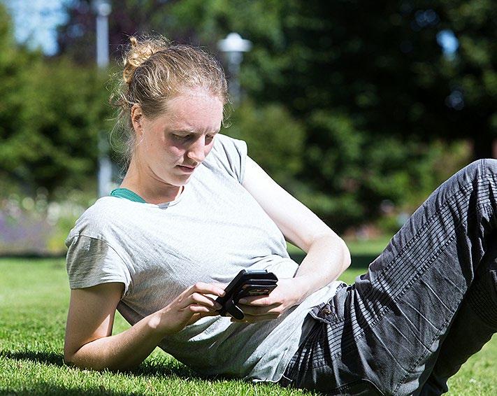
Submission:
[[[354,250],[353,250],[354,253]],[[368,257],[371,250],[359,250]],[[347,282],[364,271],[352,267]],[[312,395],[271,384],[202,379],[156,350],[132,372],[64,365],[64,260],[0,260],[0,395]],[[127,327],[118,316],[115,332]],[[450,381],[452,395],[497,395],[497,337]]]

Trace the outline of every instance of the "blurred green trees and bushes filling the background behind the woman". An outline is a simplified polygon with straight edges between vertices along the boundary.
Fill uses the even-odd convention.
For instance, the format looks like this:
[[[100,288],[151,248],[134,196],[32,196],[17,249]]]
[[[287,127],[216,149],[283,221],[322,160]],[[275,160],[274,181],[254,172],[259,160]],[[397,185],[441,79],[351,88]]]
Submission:
[[[224,133],[338,232],[394,232],[456,169],[495,155],[492,0],[113,1],[107,73],[94,65],[90,1],[67,7],[59,53],[46,57],[14,42],[0,3],[0,198],[28,213],[25,197],[41,196],[45,212],[71,197],[61,235],[96,199],[97,135],[113,126],[108,78],[133,34],[219,59],[230,31],[250,39]]]

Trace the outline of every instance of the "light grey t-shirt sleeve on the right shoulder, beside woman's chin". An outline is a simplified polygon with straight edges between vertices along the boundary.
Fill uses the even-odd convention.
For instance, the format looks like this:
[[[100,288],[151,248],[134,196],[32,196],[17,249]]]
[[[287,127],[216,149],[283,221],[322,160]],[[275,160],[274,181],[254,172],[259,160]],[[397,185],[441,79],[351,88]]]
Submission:
[[[218,167],[223,167],[233,178],[243,183],[247,143],[223,134],[217,134],[210,160],[215,160]]]

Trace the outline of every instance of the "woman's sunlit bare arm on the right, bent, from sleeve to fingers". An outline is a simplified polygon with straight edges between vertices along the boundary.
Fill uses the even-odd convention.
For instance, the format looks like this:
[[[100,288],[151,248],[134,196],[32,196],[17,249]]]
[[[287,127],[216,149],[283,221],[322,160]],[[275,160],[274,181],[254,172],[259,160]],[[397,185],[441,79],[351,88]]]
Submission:
[[[317,215],[275,183],[250,157],[247,157],[243,187],[264,208],[280,228],[287,241],[294,243],[307,255],[298,268],[296,277],[279,281],[277,291],[268,297],[247,299],[251,305],[271,306],[268,313],[278,315],[300,302],[324,285],[336,280],[350,265],[350,253],[345,242]],[[284,290],[281,286],[284,286]],[[287,299],[280,304],[274,299]],[[247,307],[245,313],[261,313]],[[274,316],[273,316],[274,317]],[[261,316],[267,319],[269,316]]]

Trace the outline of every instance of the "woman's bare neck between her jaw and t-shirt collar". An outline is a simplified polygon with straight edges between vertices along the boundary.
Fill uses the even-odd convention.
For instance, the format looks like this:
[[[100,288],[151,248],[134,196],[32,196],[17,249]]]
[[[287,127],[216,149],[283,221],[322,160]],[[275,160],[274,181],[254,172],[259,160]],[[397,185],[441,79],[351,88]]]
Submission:
[[[149,204],[162,204],[177,199],[182,191],[183,186],[170,185],[162,183],[136,166],[136,162],[131,160],[129,163],[126,176],[122,179],[120,188],[127,188],[142,197]]]

